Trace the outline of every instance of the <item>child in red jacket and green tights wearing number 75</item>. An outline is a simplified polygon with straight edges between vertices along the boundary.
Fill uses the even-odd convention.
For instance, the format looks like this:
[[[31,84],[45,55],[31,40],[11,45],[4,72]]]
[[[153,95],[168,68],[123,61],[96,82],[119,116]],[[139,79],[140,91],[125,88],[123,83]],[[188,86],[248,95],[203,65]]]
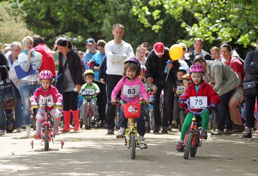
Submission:
[[[186,104],[183,104],[184,101],[190,99],[190,106],[194,107],[196,105],[201,105],[202,107],[208,107],[209,109],[216,109],[216,106],[220,104],[221,100],[219,95],[213,90],[213,88],[205,83],[203,80],[204,76],[204,68],[201,64],[193,64],[189,70],[192,83],[190,83],[189,87],[186,89],[184,96],[180,97],[178,103],[180,107],[186,107]],[[209,122],[209,116],[212,113],[212,110],[206,109],[203,114],[199,115],[202,118],[202,130],[201,130],[201,139],[207,139],[207,126]],[[202,109],[191,109],[192,111],[202,111]],[[179,152],[184,152],[184,137],[187,130],[191,126],[193,113],[190,113],[188,108],[186,109],[188,112],[184,124],[181,130],[181,137],[178,141],[178,145],[176,146],[176,150]]]

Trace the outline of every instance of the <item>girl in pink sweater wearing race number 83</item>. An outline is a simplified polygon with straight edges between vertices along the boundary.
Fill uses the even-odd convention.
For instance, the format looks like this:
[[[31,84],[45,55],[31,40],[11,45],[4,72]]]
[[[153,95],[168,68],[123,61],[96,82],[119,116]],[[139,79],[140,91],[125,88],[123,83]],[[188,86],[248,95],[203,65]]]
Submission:
[[[140,69],[141,64],[135,57],[127,58],[127,60],[124,61],[124,77],[115,86],[111,94],[111,102],[116,101],[117,94],[121,90],[121,99],[124,101],[124,103],[139,103],[140,92],[146,103],[150,103],[150,99],[148,97],[147,91],[145,90],[144,84],[140,78],[138,78],[140,75]],[[125,118],[124,111],[121,106],[121,112],[119,112],[120,129],[116,134],[117,136],[122,136],[125,134],[127,121],[128,120]],[[137,131],[140,135],[139,146],[141,149],[144,149],[146,147],[144,140],[146,129],[142,111],[140,117],[136,118],[135,121],[137,122]]]

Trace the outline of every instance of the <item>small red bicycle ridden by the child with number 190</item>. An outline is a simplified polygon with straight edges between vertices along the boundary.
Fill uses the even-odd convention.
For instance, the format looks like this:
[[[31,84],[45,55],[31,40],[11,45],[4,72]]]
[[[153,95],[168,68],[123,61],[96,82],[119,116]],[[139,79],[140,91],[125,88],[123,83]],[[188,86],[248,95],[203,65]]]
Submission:
[[[92,116],[92,111],[90,106],[91,99],[94,95],[96,95],[96,93],[93,93],[93,94],[81,93],[81,95],[83,96],[84,99],[87,100],[87,111],[85,112],[85,115],[84,115],[85,129],[90,129],[92,123],[96,124],[96,119],[94,119]]]

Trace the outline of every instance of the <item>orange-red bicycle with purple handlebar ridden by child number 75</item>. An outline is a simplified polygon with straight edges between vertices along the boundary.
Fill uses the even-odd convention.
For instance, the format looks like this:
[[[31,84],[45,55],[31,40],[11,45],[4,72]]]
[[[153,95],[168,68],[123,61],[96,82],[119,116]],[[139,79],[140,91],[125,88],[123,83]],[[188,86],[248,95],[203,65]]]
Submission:
[[[208,107],[203,107],[203,110],[201,112],[194,112],[190,109],[189,99],[187,101],[184,101],[184,103],[187,104],[187,107],[191,113],[193,113],[192,118],[192,124],[190,129],[186,132],[184,137],[184,159],[188,159],[189,152],[191,157],[195,157],[195,154],[197,152],[197,148],[202,146],[202,140],[200,138],[200,132],[202,130],[201,128],[201,121],[202,119],[199,116],[202,114]]]

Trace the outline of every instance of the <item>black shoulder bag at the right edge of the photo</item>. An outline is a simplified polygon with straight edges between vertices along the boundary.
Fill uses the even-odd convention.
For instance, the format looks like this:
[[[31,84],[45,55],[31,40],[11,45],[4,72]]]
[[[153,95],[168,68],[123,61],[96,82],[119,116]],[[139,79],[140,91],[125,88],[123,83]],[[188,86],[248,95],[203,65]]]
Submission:
[[[257,76],[251,80],[244,80],[243,89],[245,96],[256,96],[258,93]]]

